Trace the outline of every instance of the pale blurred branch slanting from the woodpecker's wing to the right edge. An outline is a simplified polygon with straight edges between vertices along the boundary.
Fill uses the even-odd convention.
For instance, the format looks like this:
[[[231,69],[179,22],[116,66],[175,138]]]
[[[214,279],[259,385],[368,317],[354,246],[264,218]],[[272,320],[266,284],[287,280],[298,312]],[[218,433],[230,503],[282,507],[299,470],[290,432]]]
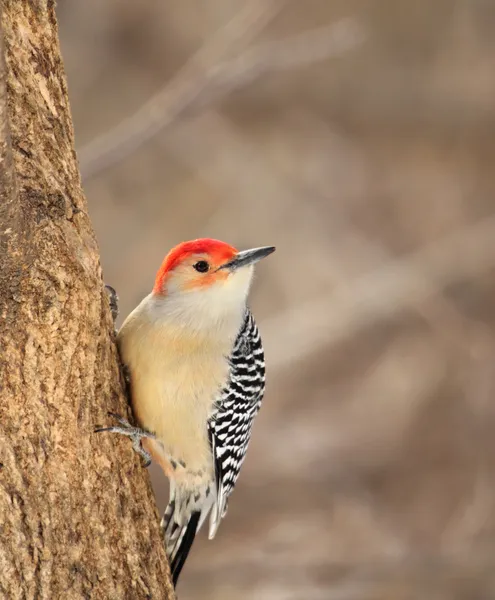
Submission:
[[[416,309],[445,286],[494,266],[495,216],[265,320],[262,331],[271,368],[304,359],[400,310]]]

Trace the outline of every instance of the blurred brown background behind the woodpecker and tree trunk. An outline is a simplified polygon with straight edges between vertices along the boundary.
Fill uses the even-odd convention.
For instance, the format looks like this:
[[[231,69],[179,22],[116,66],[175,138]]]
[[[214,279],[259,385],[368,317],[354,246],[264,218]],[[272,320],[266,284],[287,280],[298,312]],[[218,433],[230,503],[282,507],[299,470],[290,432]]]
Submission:
[[[58,14],[122,313],[183,239],[277,246],[264,406],[181,600],[495,599],[495,3]]]

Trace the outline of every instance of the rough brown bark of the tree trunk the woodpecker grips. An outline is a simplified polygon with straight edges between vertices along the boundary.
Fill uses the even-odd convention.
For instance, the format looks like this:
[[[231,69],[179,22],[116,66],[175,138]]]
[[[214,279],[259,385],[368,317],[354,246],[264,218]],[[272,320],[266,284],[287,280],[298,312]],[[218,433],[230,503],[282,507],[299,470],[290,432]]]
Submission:
[[[173,598],[147,473],[93,434],[127,409],[53,1],[2,30],[0,598]]]

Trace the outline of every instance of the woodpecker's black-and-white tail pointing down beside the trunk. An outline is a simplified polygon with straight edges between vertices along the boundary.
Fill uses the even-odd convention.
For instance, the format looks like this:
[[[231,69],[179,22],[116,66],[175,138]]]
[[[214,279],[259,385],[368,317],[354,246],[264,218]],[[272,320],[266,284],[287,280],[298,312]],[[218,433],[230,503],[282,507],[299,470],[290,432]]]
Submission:
[[[180,572],[193,545],[196,533],[203,524],[211,508],[197,498],[203,494],[191,494],[182,487],[170,482],[170,500],[161,522],[165,549],[170,562],[172,581],[177,585]]]

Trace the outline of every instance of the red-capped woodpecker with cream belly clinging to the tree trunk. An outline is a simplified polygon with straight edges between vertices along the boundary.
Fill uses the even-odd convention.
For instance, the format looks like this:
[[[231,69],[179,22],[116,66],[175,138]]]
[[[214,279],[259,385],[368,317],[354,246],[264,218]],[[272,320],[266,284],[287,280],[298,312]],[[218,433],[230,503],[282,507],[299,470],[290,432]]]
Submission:
[[[169,478],[161,527],[174,585],[208,514],[215,536],[246,456],[265,389],[246,302],[254,264],[274,250],[182,242],[117,335],[138,426],[114,415],[119,425],[97,431],[128,436]]]

